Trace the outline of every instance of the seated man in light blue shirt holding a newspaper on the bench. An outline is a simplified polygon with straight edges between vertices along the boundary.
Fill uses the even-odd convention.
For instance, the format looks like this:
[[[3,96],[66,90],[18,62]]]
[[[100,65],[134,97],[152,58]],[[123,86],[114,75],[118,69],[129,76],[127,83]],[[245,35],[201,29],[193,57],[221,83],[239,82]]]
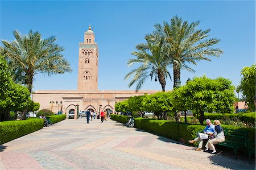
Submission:
[[[206,119],[205,122],[207,123],[207,126],[204,129],[204,134],[199,132],[197,134],[196,139],[188,140],[189,143],[195,143],[195,142],[199,141],[198,148],[195,151],[200,151],[201,148],[203,147],[203,140],[209,139],[210,138],[209,135],[212,135],[215,132],[215,126],[212,125],[212,122],[210,122],[210,119]]]

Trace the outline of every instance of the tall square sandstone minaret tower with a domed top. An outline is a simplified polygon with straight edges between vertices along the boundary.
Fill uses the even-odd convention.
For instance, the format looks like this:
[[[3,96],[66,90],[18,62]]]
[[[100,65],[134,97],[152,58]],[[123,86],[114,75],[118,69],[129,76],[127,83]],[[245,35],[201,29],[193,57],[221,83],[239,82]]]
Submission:
[[[98,90],[98,45],[90,24],[84,32],[84,43],[79,43],[77,90]]]

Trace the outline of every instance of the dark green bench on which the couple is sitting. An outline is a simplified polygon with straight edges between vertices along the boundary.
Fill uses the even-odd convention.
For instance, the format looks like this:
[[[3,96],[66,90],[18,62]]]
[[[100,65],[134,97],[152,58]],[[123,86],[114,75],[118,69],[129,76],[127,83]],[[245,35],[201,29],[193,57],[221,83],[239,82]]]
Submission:
[[[245,147],[247,138],[247,131],[233,130],[229,128],[223,128],[225,134],[225,141],[219,143],[220,146],[230,147],[234,149],[235,158],[237,159],[237,150]]]

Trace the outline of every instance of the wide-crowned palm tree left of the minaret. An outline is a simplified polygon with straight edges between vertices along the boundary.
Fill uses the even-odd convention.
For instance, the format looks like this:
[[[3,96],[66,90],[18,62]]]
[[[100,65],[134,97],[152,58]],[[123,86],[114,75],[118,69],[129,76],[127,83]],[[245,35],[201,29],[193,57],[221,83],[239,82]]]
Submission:
[[[11,65],[14,81],[22,82],[32,92],[34,76],[39,73],[62,74],[71,72],[69,63],[61,54],[64,51],[55,43],[56,37],[41,39],[41,34],[30,30],[28,35],[21,35],[14,31],[15,40],[2,40],[1,52]]]

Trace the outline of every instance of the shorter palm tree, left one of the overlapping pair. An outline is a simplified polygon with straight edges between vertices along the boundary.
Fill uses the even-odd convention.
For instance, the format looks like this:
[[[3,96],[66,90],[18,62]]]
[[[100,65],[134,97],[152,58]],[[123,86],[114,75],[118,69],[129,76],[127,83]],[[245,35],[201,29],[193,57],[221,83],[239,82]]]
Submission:
[[[160,33],[161,32],[156,29],[153,34],[146,35],[146,43],[138,44],[136,46],[137,51],[131,52],[132,55],[137,57],[128,60],[128,67],[131,67],[131,65],[135,63],[141,65],[126,74],[125,80],[128,80],[130,76],[134,75],[128,86],[130,87],[135,82],[138,82],[136,92],[141,89],[144,81],[148,77],[151,77],[151,81],[152,78],[155,78],[155,81],[158,80],[164,92],[166,78],[171,78],[171,74],[168,72],[168,67],[170,66],[167,62],[168,56],[164,51],[164,37]]]

